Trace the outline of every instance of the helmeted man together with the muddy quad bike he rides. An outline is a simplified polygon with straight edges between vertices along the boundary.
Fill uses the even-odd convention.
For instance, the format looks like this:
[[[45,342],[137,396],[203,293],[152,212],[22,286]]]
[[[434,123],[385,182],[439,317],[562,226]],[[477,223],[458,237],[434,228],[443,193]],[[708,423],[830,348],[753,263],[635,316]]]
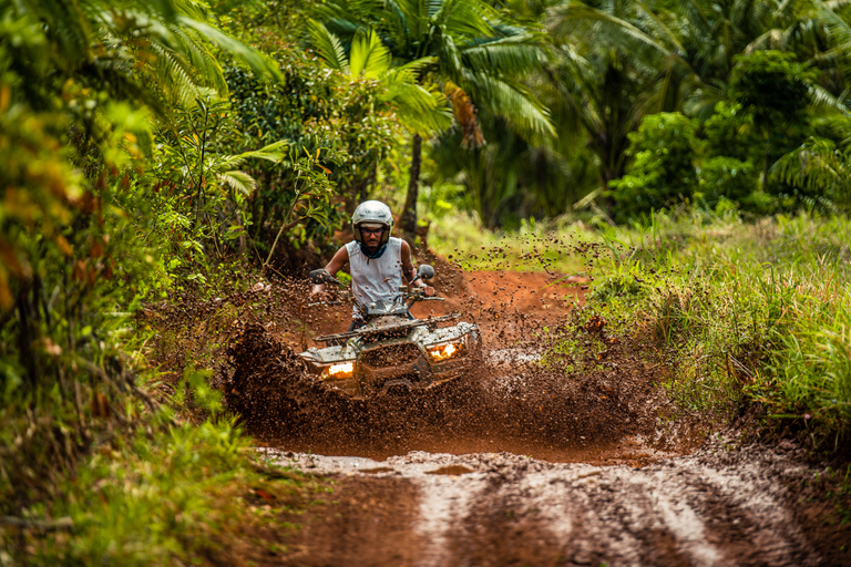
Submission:
[[[355,241],[341,247],[325,269],[310,272],[314,296],[327,296],[327,285],[339,286],[332,275],[347,261],[350,265],[349,330],[317,337],[326,348],[308,349],[300,357],[326,384],[352,398],[428,390],[468,373],[475,364],[475,324],[440,327],[459,313],[424,320],[411,315],[414,302],[440,300],[424,281],[434,270],[426,265],[414,270],[410,246],[390,236],[392,227],[387,205],[361,203],[351,218]]]

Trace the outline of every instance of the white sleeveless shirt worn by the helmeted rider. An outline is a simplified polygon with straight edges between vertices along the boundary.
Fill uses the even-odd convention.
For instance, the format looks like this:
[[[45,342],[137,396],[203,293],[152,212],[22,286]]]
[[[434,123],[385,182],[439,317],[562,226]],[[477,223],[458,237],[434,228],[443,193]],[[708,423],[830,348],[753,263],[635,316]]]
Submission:
[[[390,237],[387,249],[380,258],[368,258],[360,251],[360,244],[352,240],[346,245],[351,268],[351,291],[362,303],[379,299],[392,300],[402,285],[402,239]],[[353,309],[355,315],[358,313]]]

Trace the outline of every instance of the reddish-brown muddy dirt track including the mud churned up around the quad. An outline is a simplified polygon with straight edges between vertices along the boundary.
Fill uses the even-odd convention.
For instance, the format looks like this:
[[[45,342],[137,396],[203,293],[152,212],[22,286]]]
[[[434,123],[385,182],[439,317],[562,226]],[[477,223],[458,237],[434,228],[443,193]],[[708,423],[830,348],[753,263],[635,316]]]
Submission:
[[[558,327],[581,284],[512,272],[444,281],[462,289],[417,315],[465,310],[491,355],[470,377],[475,389],[392,408],[294,382],[305,332],[277,321],[279,331],[248,329],[224,385],[250,401],[249,432],[269,457],[336,483],[325,504],[286,518],[303,527],[283,542],[284,563],[851,565],[851,530],[837,525],[824,471],[788,442],[739,446],[730,434],[701,444],[699,420],[659,420],[670,411],[657,385],[664,364],[598,319]],[[311,324],[327,332],[346,317],[338,309]],[[517,342],[529,336],[578,337],[597,350],[558,361],[586,370],[565,378],[526,355],[546,342]],[[515,347],[496,348],[505,344]],[[275,402],[287,389],[300,405]]]

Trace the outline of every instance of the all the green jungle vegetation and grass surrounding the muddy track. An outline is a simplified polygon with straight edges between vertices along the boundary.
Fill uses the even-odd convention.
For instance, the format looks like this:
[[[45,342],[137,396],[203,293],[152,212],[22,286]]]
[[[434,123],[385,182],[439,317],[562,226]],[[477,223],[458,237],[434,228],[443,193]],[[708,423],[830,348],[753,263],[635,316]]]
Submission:
[[[0,563],[180,561],[229,529],[198,519],[235,513],[223,494],[301,485],[243,456],[196,361],[192,403],[152,398],[142,321],[233,270],[279,275],[281,248],[331,246],[366,197],[411,238],[469,213],[504,230],[581,220],[635,246],[595,293],[666,258],[664,285],[624,289],[695,361],[671,384],[684,404],[735,391],[839,442],[849,10],[0,0]],[[189,425],[188,408],[213,422]],[[141,548],[143,514],[174,533]]]

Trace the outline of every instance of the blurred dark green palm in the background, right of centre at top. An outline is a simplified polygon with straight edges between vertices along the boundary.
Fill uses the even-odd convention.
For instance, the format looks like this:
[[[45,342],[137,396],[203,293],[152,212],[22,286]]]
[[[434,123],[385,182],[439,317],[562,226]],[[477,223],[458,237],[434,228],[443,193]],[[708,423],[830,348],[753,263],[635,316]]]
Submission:
[[[642,2],[567,1],[551,10],[547,28],[556,56],[545,70],[545,100],[565,117],[560,135],[586,133],[605,192],[624,174],[627,134],[646,114],[680,107],[691,74],[683,45]]]

